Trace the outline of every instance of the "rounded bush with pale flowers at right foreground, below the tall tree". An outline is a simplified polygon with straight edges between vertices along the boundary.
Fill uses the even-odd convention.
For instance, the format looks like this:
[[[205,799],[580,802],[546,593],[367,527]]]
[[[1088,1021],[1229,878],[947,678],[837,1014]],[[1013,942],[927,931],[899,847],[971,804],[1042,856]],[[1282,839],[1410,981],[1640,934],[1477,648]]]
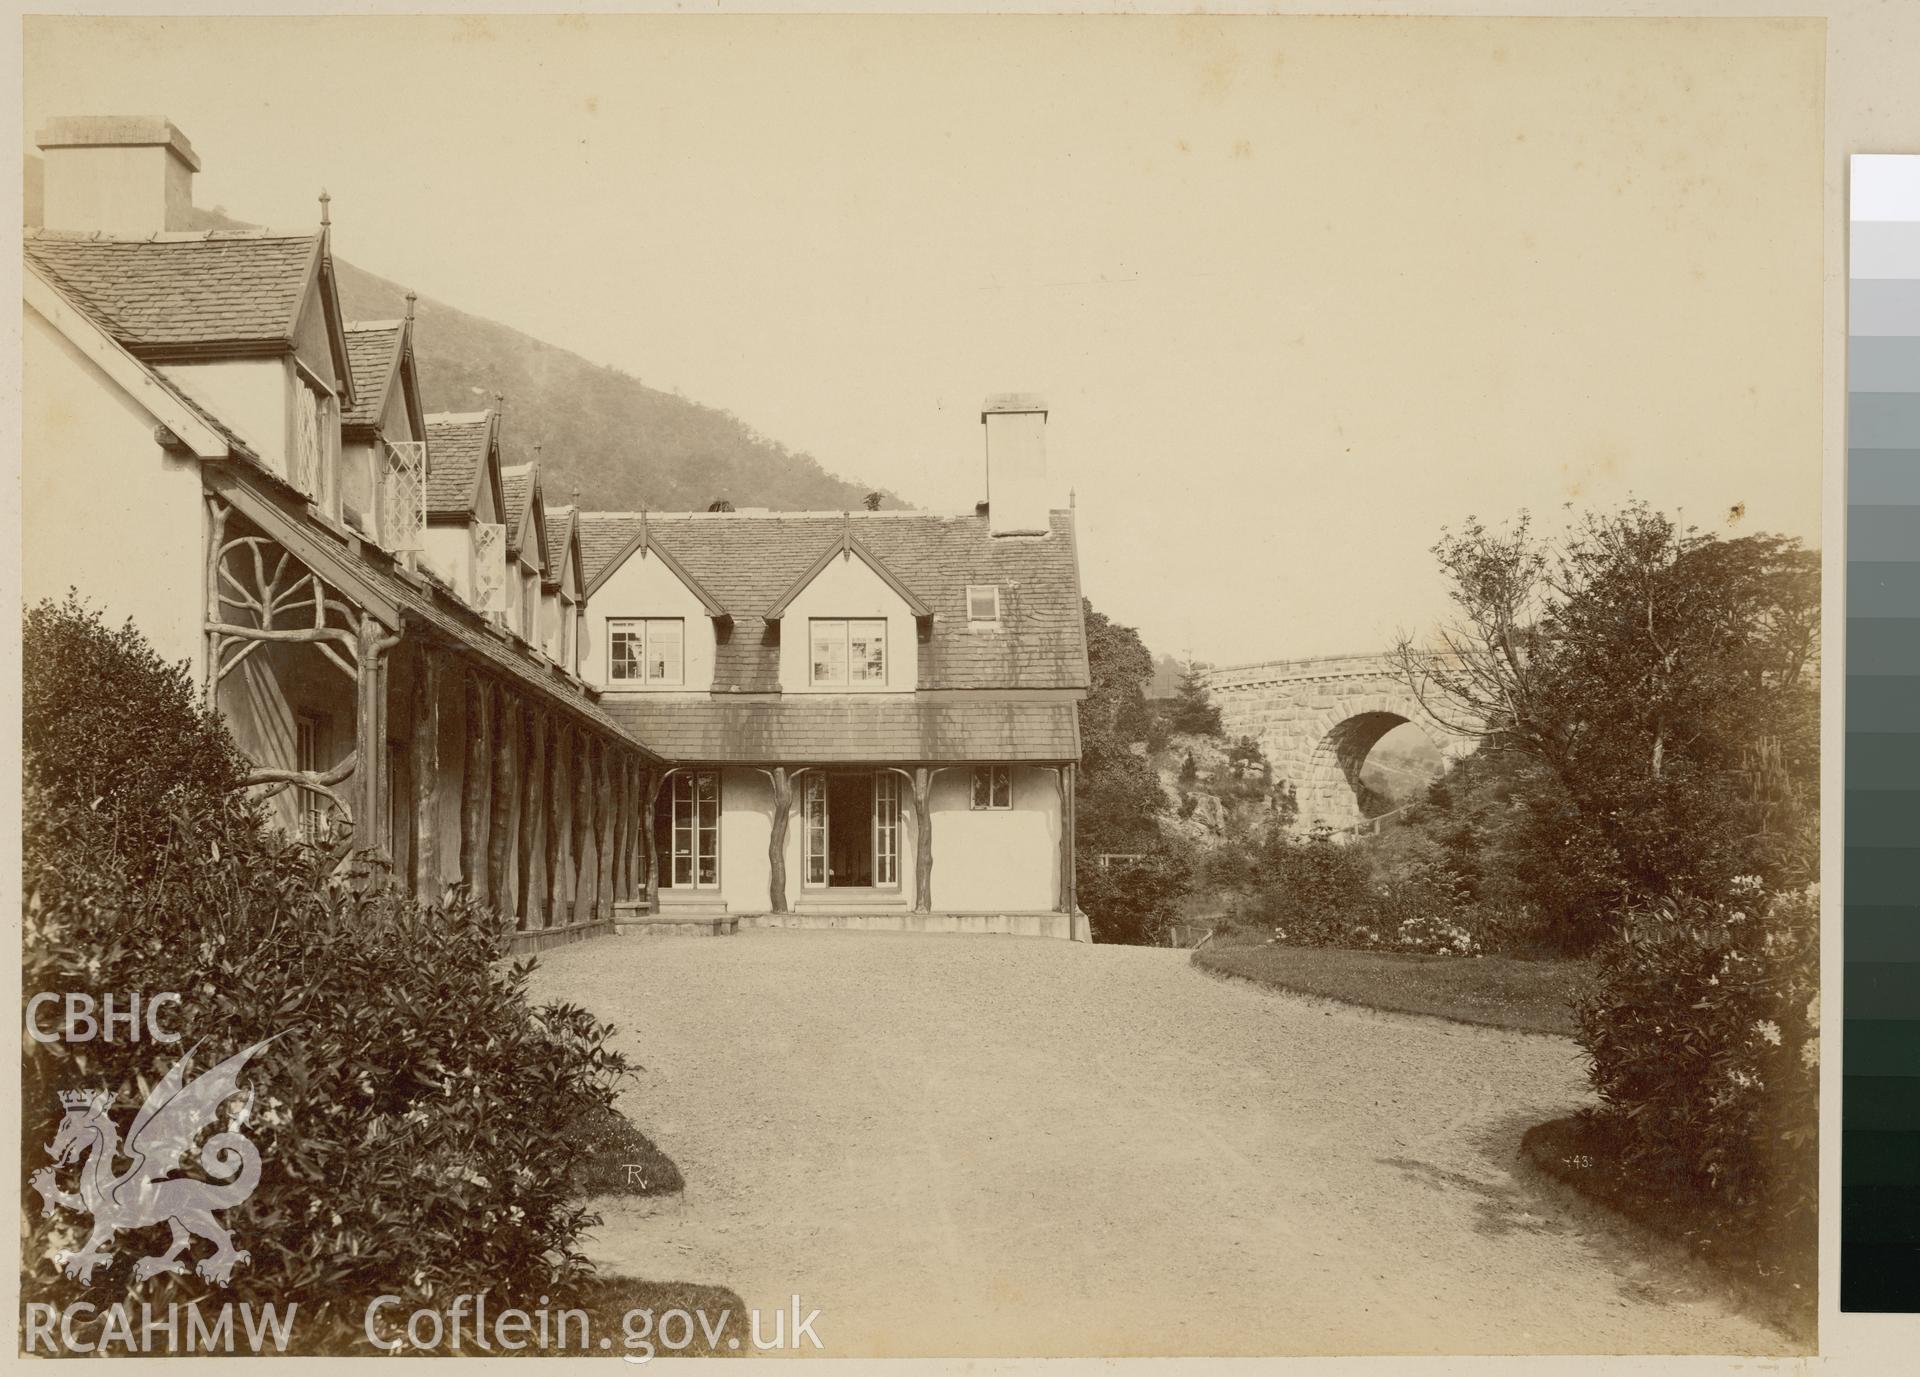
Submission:
[[[1818,1198],[1818,887],[1632,912],[1580,1006],[1599,1114],[1647,1183],[1805,1244]]]

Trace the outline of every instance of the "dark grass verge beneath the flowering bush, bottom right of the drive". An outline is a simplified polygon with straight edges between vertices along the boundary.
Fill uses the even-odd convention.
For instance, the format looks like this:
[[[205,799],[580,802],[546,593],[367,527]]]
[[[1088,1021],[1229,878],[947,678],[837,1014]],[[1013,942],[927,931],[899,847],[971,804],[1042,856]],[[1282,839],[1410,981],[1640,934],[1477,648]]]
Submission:
[[[1672,1239],[1726,1279],[1749,1310],[1812,1348],[1818,1337],[1820,1260],[1812,1231],[1782,1239],[1740,1233],[1715,1221],[1697,1195],[1649,1185],[1620,1166],[1605,1120],[1572,1114],[1536,1123],[1521,1137],[1521,1158],[1590,1200]]]

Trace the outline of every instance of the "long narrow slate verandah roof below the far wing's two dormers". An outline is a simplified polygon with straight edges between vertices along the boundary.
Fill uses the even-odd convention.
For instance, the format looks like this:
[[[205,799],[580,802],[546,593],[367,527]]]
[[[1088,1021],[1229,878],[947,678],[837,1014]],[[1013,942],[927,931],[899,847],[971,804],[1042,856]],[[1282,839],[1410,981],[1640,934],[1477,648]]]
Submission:
[[[632,693],[601,707],[670,761],[847,764],[1077,761],[1073,703],[954,703],[908,695],[666,699]]]

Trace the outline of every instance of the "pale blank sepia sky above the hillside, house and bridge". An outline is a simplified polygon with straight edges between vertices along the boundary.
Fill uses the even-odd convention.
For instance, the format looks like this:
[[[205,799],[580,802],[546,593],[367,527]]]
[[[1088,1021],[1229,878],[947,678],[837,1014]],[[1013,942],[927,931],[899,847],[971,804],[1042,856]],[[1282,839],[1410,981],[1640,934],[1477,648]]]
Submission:
[[[1467,517],[1818,540],[1820,75],[1797,21],[29,19],[25,129],[167,115],[200,205],[324,186],[361,267],[925,509],[1039,392],[1087,595],[1233,664],[1430,628]]]

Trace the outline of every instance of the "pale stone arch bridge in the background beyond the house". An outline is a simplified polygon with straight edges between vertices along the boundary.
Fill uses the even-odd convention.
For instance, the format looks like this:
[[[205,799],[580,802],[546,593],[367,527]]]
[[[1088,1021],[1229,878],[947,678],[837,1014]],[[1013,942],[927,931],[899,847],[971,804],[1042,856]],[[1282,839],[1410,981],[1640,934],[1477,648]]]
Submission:
[[[1256,737],[1273,778],[1294,785],[1302,828],[1325,822],[1344,832],[1367,822],[1361,766],[1402,722],[1421,728],[1448,762],[1476,745],[1421,707],[1392,655],[1227,664],[1206,670],[1204,680],[1227,736]]]

